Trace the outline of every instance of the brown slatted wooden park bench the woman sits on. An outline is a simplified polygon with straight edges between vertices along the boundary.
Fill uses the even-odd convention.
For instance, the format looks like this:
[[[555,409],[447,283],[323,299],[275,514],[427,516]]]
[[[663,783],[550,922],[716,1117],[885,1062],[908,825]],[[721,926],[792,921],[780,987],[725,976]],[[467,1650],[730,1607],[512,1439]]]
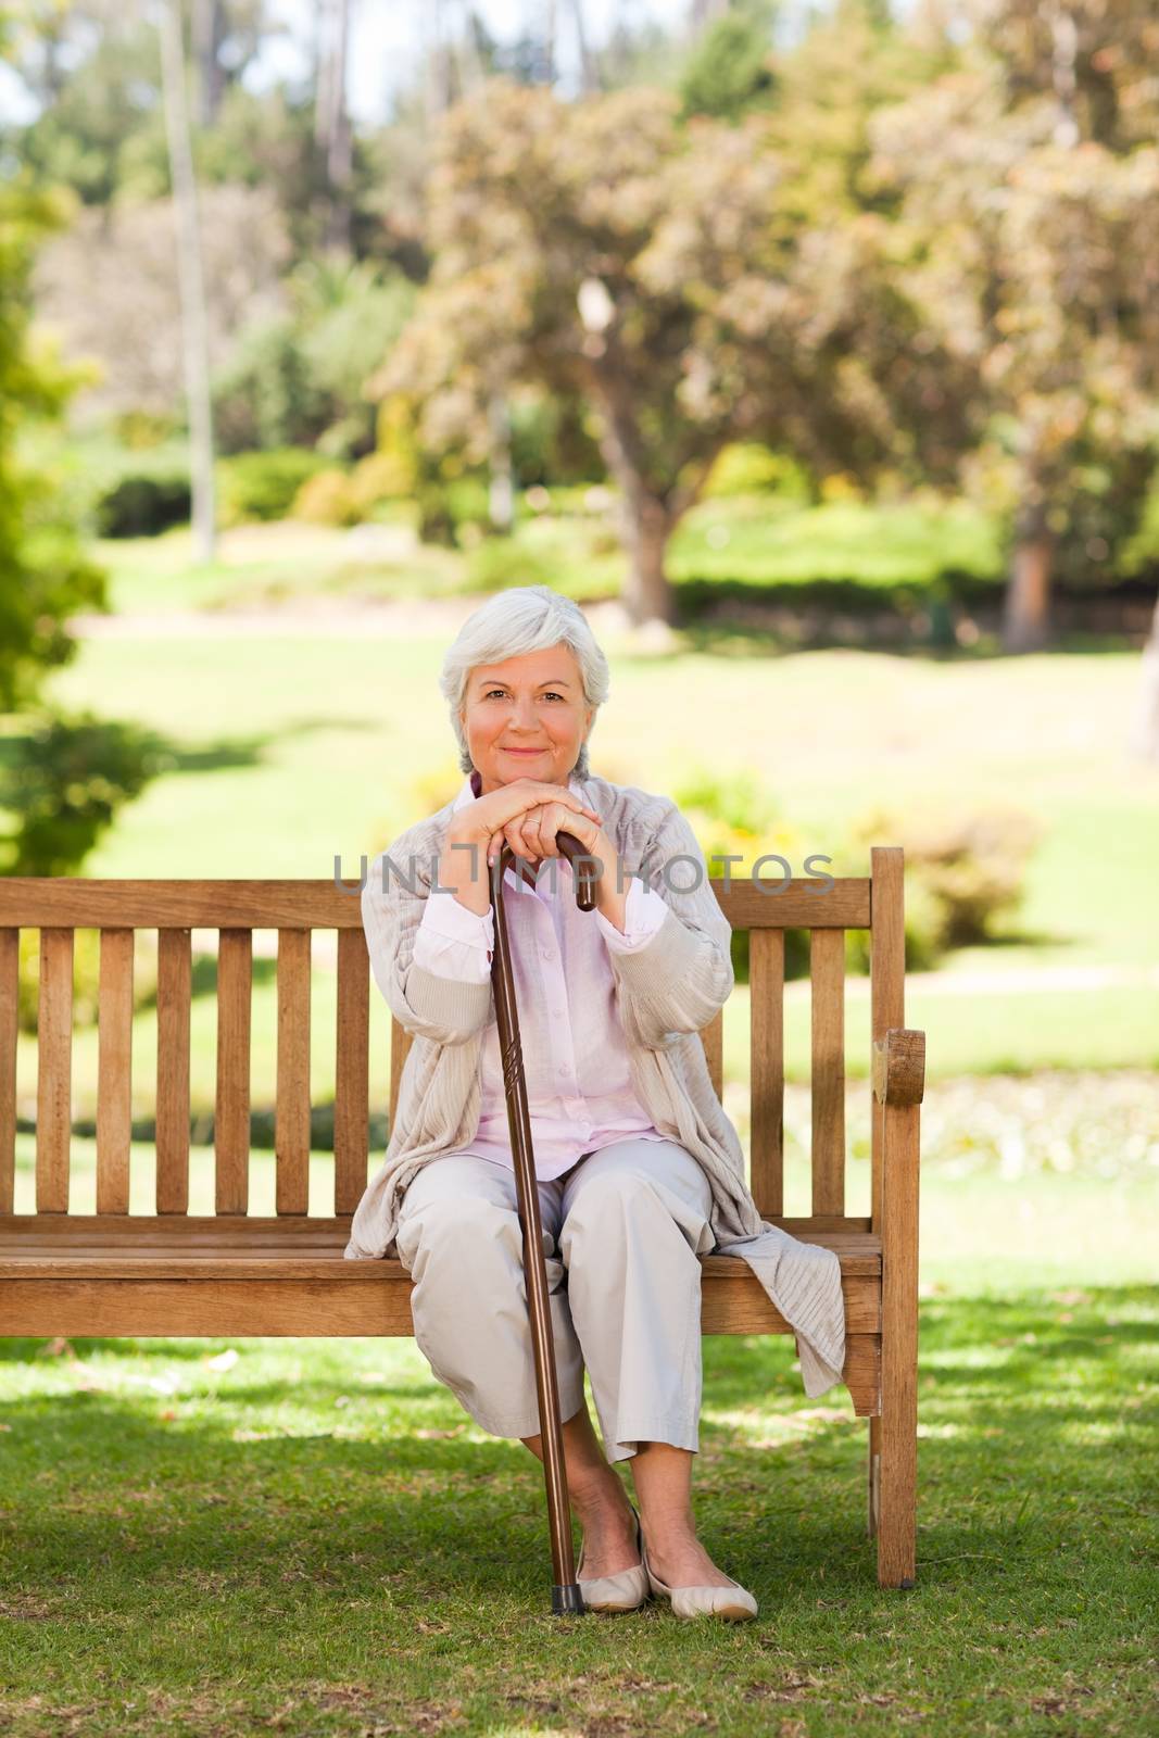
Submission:
[[[902,850],[777,897],[714,888],[751,947],[751,1189],[765,1218],[841,1258],[844,1383],[869,1418],[881,1587],[916,1576],[917,1119],[924,1034],[905,1031]],[[778,886],[778,881],[768,881]],[[14,1211],[17,947],[40,932],[35,1211]],[[96,1213],[70,1213],[73,932],[99,944]],[[191,930],[219,932],[215,1213],[189,1208]],[[811,1213],[784,1215],[784,940],[810,932]],[[872,1201],[844,1210],[844,930],[871,933]],[[156,1203],[129,1213],[134,932],[156,930]],[[278,932],[276,1199],[248,1213],[254,930]],[[311,932],[337,932],[334,1210],[308,1211]],[[391,1118],[410,1036],[391,1020]],[[721,1091],[723,1018],[702,1043]],[[332,881],[0,879],[0,1333],[412,1335],[400,1262],[342,1250],[368,1175],[370,966],[360,900]],[[374,1166],[382,1154],[375,1151]],[[702,1257],[704,1333],[791,1333],[756,1276]]]

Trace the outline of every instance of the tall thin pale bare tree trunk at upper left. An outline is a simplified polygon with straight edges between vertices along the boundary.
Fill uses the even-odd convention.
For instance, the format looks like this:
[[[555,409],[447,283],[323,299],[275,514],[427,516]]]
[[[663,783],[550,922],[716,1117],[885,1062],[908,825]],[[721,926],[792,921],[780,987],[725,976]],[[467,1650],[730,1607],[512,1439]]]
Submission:
[[[205,278],[196,214],[196,179],[189,144],[186,63],[181,42],[181,0],[163,0],[160,10],[162,83],[169,172],[177,217],[177,282],[181,290],[181,337],[184,348],[186,400],[189,407],[193,546],[202,561],[212,561],[217,544],[214,502],[214,414],[209,393],[209,334],[205,327]]]

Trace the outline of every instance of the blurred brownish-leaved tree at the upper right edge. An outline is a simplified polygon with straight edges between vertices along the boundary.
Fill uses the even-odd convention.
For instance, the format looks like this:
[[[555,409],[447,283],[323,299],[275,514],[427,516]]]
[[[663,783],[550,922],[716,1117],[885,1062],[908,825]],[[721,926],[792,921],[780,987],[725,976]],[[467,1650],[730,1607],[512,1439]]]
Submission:
[[[1135,61],[1156,64],[1159,14],[978,12],[994,52],[879,115],[874,137],[904,188],[907,294],[977,367],[983,436],[961,471],[1011,525],[1017,652],[1048,641],[1055,577],[1112,572],[1159,452],[1159,85]]]

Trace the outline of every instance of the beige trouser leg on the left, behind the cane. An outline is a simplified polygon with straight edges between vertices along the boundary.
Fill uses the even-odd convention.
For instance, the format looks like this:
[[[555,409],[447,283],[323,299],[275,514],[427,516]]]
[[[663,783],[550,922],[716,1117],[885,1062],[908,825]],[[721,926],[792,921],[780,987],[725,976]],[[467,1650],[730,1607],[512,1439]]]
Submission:
[[[584,1357],[556,1246],[561,1187],[556,1178],[537,1187],[560,1416],[568,1420],[584,1404]],[[483,1430],[535,1436],[535,1352],[514,1171],[473,1154],[424,1164],[403,1196],[396,1248],[414,1281],[415,1340],[433,1373]]]

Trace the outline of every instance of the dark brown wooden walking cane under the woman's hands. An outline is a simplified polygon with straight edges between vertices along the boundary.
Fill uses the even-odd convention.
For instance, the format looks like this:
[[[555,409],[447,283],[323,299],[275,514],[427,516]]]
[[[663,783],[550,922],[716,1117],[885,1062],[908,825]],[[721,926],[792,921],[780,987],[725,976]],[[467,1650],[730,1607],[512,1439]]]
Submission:
[[[580,911],[596,909],[596,859],[589,857],[573,833],[558,833],[556,848],[566,857],[575,874],[575,902]],[[577,859],[580,869],[575,869]],[[546,859],[544,859],[546,860]],[[535,1185],[535,1158],[532,1152],[532,1121],[527,1109],[527,1079],[523,1074],[523,1045],[520,1041],[520,1015],[514,1005],[514,972],[507,944],[507,918],[502,902],[504,872],[523,859],[507,843],[499,852],[493,867],[492,905],[495,907],[495,958],[492,985],[495,989],[495,1018],[499,1024],[499,1051],[502,1055],[504,1091],[507,1095],[507,1128],[511,1131],[511,1158],[514,1161],[520,1225],[523,1229],[523,1274],[527,1279],[527,1307],[532,1323],[535,1350],[535,1392],[539,1396],[539,1432],[544,1444],[544,1476],[547,1483],[547,1524],[551,1528],[551,1615],[580,1616],[587,1611],[572,1550],[572,1510],[568,1505],[566,1469],[563,1463],[563,1432],[560,1425],[560,1385],[556,1382],[556,1349],[547,1304],[547,1269],[539,1218],[539,1189]]]

